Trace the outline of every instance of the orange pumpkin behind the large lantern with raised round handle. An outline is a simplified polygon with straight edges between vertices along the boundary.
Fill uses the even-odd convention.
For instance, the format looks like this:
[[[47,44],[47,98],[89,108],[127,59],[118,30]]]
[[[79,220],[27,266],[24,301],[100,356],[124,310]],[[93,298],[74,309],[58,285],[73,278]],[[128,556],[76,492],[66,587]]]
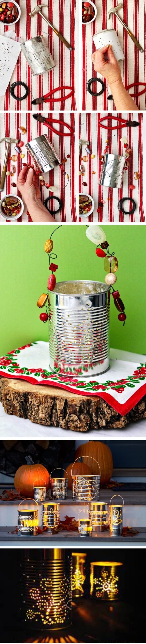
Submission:
[[[100,440],[89,440],[89,442],[82,443],[77,448],[75,459],[80,456],[84,456],[84,463],[89,464],[92,474],[99,474],[98,465],[95,460],[92,460],[96,459],[101,470],[100,485],[103,486],[109,482],[113,472],[113,458],[107,445],[100,442]],[[87,459],[87,456],[90,456],[91,459]]]

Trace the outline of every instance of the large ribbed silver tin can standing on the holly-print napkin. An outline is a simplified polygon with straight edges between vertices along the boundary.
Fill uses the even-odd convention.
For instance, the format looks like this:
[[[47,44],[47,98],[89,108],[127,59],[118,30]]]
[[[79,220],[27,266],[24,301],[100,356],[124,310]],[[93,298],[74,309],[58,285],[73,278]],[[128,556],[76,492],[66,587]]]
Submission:
[[[110,287],[66,281],[49,292],[50,368],[58,374],[97,375],[109,369]]]

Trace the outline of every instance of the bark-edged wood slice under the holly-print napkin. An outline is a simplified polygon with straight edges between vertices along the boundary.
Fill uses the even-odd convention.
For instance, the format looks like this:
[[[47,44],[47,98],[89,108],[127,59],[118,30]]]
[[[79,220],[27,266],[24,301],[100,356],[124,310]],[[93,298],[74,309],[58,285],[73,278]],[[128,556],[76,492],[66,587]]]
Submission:
[[[0,377],[0,401],[5,412],[41,425],[87,431],[123,428],[146,418],[146,396],[125,416],[98,396],[86,397],[64,389]]]

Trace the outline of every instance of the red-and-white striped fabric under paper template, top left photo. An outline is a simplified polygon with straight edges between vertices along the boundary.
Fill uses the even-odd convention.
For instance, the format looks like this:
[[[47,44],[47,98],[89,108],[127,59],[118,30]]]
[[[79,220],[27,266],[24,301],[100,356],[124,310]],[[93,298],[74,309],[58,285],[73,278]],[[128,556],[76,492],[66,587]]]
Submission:
[[[59,86],[73,86],[75,88],[75,95],[68,100],[60,103],[55,102],[51,104],[43,104],[37,106],[36,109],[78,109],[78,3],[77,0],[49,0],[49,3],[44,3],[43,13],[48,17],[66,40],[72,45],[73,50],[70,52],[66,46],[59,40],[57,35],[53,33],[51,28],[42,20],[39,14],[30,17],[29,12],[33,10],[36,5],[40,5],[40,0],[17,0],[21,6],[21,19],[18,23],[12,25],[17,35],[24,41],[35,37],[36,35],[44,35],[44,39],[48,48],[53,56],[56,67],[49,73],[44,73],[41,76],[32,76],[30,67],[28,66],[23,52],[21,52],[14,73],[12,75],[10,84],[15,81],[24,81],[28,85],[29,95],[27,99],[17,101],[10,95],[10,87],[7,88],[5,97],[0,99],[0,109],[15,110],[24,109],[30,111],[32,109],[32,100],[43,96],[48,91],[53,90]],[[45,4],[48,5],[45,7]],[[0,33],[3,35],[7,26],[0,23]],[[17,95],[18,95],[17,88]],[[24,90],[23,90],[24,93]],[[66,90],[66,95],[69,90]],[[33,95],[33,96],[32,96]],[[62,93],[63,95],[63,93]],[[55,94],[55,98],[59,93]],[[47,106],[47,108],[46,108]]]

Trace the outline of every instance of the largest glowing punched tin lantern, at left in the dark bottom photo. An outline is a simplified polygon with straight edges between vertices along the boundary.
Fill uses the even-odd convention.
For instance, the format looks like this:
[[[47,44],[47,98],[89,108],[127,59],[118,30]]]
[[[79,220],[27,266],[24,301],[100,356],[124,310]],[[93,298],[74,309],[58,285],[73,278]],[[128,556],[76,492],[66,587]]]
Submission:
[[[21,566],[24,621],[32,629],[37,622],[37,629],[58,632],[71,624],[71,553],[48,548],[28,557]]]

